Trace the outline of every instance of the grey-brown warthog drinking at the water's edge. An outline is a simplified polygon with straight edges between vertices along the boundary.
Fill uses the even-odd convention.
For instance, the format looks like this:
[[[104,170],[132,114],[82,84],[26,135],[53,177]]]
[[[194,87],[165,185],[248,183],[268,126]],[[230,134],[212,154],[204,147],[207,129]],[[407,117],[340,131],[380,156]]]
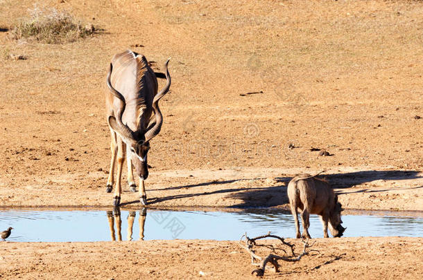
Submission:
[[[297,239],[300,238],[300,223],[298,222],[297,208],[302,209],[301,220],[304,229],[302,237],[310,239],[309,216],[318,214],[323,225],[323,233],[327,234],[327,223],[329,230],[334,237],[343,235],[346,227],[340,225],[340,212],[343,211],[342,205],[338,203],[338,196],[334,194],[329,184],[322,179],[309,174],[296,176],[288,184],[288,198],[291,206],[291,213],[295,219],[295,228],[297,230]]]

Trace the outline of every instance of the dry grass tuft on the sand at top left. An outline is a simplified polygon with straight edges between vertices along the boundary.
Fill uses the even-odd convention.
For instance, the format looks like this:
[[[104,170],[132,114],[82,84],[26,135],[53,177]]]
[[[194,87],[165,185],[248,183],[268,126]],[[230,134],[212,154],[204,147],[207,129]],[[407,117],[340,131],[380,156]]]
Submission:
[[[11,30],[14,39],[35,39],[45,44],[64,44],[94,33],[94,26],[83,26],[69,12],[55,8],[29,10],[30,18]]]

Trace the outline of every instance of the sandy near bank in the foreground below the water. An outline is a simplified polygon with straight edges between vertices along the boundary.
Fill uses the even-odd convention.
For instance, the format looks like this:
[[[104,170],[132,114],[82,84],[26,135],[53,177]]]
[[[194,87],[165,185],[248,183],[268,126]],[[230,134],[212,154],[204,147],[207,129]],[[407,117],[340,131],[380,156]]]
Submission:
[[[302,251],[299,241],[288,241]],[[421,279],[422,242],[319,239],[313,245],[319,252],[297,263],[279,261],[280,272],[270,268],[264,279]],[[257,279],[250,255],[235,241],[2,243],[0,255],[1,279]]]

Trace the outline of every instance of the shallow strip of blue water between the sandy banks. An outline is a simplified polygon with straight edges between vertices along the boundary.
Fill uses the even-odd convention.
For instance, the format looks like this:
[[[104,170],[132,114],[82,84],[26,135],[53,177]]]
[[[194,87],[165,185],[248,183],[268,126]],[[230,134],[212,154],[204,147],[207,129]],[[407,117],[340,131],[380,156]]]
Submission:
[[[342,219],[343,226],[347,227],[344,232],[346,237],[423,236],[422,216],[345,215]],[[132,235],[128,235],[131,220]],[[310,223],[311,237],[323,237],[318,216],[311,215]],[[245,232],[248,236],[258,236],[269,231],[283,237],[295,236],[291,214],[273,209],[250,209],[244,212],[1,210],[0,230],[8,227],[14,228],[8,241],[19,242],[239,240]]]

